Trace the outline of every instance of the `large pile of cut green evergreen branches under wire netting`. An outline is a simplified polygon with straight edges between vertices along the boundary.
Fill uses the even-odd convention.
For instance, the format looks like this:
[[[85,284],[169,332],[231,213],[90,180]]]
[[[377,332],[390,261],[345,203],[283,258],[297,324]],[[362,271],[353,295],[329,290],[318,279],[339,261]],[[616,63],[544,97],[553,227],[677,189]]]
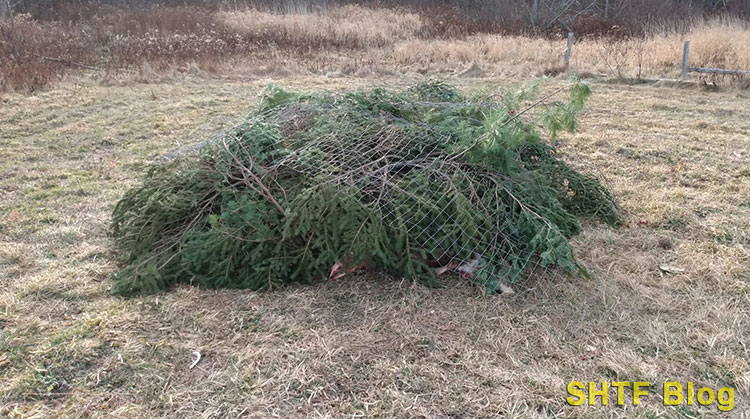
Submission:
[[[537,267],[585,273],[568,243],[577,216],[620,218],[599,181],[542,139],[573,130],[590,91],[563,93],[538,106],[534,88],[472,100],[441,82],[271,85],[245,122],[151,167],[119,201],[114,290],[267,290],[368,269],[427,284],[453,271],[491,293]]]

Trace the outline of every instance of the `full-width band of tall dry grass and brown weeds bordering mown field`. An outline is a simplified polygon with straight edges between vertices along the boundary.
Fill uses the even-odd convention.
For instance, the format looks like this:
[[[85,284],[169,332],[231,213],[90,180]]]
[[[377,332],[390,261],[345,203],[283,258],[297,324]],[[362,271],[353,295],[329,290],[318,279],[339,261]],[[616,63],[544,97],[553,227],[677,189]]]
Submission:
[[[80,71],[81,64],[107,74],[200,67],[203,73],[228,76],[236,73],[238,62],[313,73],[455,71],[470,63],[485,73],[561,70],[562,37],[459,36],[450,35],[450,25],[435,16],[362,6],[286,14],[110,7],[87,19],[65,22],[17,16],[0,25],[0,91],[40,88]],[[665,21],[652,23],[646,33],[577,39],[572,69],[621,77],[676,77],[684,39],[692,41],[691,65],[750,69],[747,21]]]

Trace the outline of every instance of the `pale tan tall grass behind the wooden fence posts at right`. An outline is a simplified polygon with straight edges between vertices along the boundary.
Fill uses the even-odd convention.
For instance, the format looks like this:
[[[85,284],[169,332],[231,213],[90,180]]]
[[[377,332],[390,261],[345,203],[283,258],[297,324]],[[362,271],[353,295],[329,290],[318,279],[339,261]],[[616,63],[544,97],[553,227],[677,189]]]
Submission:
[[[739,19],[696,20],[684,27],[654,26],[645,37],[577,39],[571,66],[575,71],[621,77],[676,77],[682,44],[691,41],[690,65],[750,69],[750,27]],[[504,72],[545,72],[563,65],[564,39],[476,35],[466,39],[415,39],[397,42],[393,59],[400,65],[455,67],[482,63]]]

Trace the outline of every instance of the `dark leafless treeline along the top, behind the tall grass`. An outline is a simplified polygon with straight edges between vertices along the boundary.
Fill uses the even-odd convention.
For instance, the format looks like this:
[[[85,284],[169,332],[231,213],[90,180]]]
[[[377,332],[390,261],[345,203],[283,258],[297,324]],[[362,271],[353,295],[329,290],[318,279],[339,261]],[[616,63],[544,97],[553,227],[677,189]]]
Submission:
[[[112,8],[190,6],[310,14],[350,4],[417,12],[430,23],[433,36],[442,37],[475,33],[554,36],[568,31],[637,36],[654,23],[679,30],[682,22],[699,18],[750,17],[750,0],[11,0],[4,7],[10,5],[12,13],[27,13],[36,20],[76,22]]]

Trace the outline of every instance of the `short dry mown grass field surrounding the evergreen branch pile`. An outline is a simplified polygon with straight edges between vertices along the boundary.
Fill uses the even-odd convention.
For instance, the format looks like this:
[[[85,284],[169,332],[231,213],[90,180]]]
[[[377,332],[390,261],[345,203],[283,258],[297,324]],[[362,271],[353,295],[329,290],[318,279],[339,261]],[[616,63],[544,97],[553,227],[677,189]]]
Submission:
[[[628,225],[587,225],[575,240],[592,281],[538,278],[512,298],[382,276],[109,296],[115,201],[144,162],[240,119],[261,85],[79,81],[2,99],[0,415],[718,416],[658,394],[638,408],[569,407],[574,379],[735,386],[730,417],[750,409],[746,93],[593,86],[582,132],[559,146],[607,180]]]

